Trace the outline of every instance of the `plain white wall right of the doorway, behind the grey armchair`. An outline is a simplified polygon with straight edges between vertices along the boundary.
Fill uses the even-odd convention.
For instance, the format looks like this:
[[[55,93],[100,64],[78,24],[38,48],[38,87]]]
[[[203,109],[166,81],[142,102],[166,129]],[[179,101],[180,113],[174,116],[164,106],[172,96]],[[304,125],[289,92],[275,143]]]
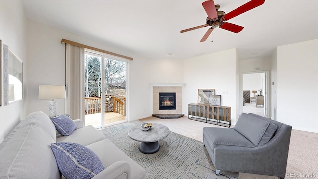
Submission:
[[[277,120],[318,132],[318,39],[277,47]]]

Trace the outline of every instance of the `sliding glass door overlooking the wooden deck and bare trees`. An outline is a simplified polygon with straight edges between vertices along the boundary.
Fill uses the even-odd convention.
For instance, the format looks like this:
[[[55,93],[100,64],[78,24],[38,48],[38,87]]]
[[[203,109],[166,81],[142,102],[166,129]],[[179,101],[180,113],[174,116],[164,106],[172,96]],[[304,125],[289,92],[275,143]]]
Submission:
[[[85,126],[126,122],[127,61],[85,50]]]

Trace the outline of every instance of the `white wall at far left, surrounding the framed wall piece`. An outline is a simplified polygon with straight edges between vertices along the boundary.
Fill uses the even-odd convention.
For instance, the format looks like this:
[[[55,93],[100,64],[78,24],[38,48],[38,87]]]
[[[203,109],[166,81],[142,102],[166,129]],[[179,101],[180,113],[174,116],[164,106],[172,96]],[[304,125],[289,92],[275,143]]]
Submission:
[[[22,101],[0,107],[0,141],[3,141],[15,125],[27,115],[28,79],[26,55],[26,18],[21,1],[1,1],[1,40],[23,61],[23,93]],[[3,92],[3,91],[2,91]]]

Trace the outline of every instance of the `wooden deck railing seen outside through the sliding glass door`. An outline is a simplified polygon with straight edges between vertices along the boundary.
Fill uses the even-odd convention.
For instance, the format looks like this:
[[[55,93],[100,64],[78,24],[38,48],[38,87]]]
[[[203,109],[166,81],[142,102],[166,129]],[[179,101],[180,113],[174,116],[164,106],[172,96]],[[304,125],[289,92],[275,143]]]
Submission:
[[[116,112],[121,115],[126,115],[126,111],[125,111],[126,97],[119,97],[119,98],[112,97],[112,100],[113,100],[113,110],[111,112]],[[100,112],[101,112],[101,97],[85,97],[85,115],[95,114]],[[105,112],[107,112],[107,109],[105,109]]]

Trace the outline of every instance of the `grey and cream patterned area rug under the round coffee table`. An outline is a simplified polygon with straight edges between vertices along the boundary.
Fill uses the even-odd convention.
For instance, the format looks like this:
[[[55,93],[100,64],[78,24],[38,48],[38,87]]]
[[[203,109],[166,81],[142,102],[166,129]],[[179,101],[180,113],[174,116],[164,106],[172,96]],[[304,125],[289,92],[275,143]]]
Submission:
[[[140,142],[130,139],[128,130],[141,125],[134,121],[100,130],[119,149],[146,170],[146,179],[239,179],[239,173],[215,168],[203,143],[174,132],[159,141],[160,149],[154,154],[139,151]]]

